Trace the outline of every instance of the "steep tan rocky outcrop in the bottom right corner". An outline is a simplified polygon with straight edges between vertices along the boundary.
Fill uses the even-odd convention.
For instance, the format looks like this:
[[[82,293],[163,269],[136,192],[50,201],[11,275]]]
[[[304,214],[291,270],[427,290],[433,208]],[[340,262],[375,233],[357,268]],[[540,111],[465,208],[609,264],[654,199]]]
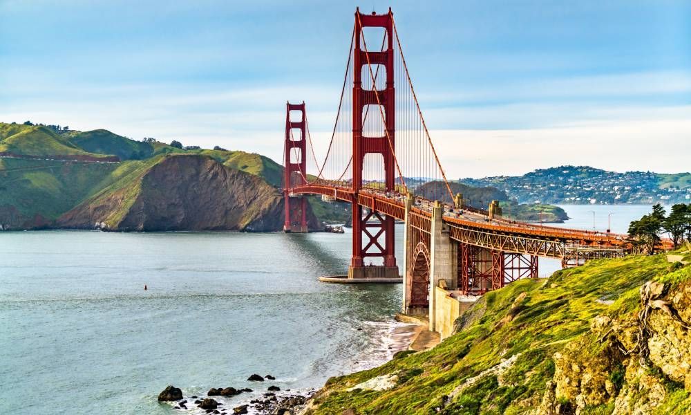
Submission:
[[[555,353],[536,414],[564,413],[565,405],[576,415],[668,413],[670,393],[691,392],[691,282],[647,282],[640,297],[638,313],[600,315]]]

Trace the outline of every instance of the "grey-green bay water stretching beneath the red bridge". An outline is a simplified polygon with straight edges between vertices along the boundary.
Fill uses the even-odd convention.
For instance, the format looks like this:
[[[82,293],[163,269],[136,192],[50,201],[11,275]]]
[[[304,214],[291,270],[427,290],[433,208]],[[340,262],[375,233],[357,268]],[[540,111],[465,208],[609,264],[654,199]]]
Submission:
[[[562,207],[614,232],[650,212]],[[250,374],[307,390],[378,365],[405,342],[401,286],[317,282],[349,261],[349,233],[0,232],[0,414],[173,414],[169,384],[256,389],[239,400],[267,386]]]

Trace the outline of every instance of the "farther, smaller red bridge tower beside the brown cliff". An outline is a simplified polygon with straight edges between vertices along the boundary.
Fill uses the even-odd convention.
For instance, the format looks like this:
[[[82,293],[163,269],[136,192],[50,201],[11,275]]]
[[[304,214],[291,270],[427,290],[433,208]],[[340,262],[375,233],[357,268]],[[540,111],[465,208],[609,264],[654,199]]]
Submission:
[[[292,113],[292,117],[291,117]],[[291,189],[305,185],[307,146],[305,135],[305,102],[285,104],[285,147],[283,165],[283,194],[285,197],[285,221],[283,232],[307,232],[307,198],[292,196]]]

